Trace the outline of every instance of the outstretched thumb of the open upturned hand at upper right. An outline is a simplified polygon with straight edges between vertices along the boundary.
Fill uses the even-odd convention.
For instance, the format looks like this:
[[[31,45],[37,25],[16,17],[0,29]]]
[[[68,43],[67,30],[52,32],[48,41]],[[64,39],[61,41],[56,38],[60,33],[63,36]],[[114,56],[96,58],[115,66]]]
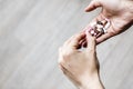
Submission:
[[[101,2],[99,0],[92,0],[91,3],[85,8],[85,11],[90,12],[99,7],[102,7]]]

